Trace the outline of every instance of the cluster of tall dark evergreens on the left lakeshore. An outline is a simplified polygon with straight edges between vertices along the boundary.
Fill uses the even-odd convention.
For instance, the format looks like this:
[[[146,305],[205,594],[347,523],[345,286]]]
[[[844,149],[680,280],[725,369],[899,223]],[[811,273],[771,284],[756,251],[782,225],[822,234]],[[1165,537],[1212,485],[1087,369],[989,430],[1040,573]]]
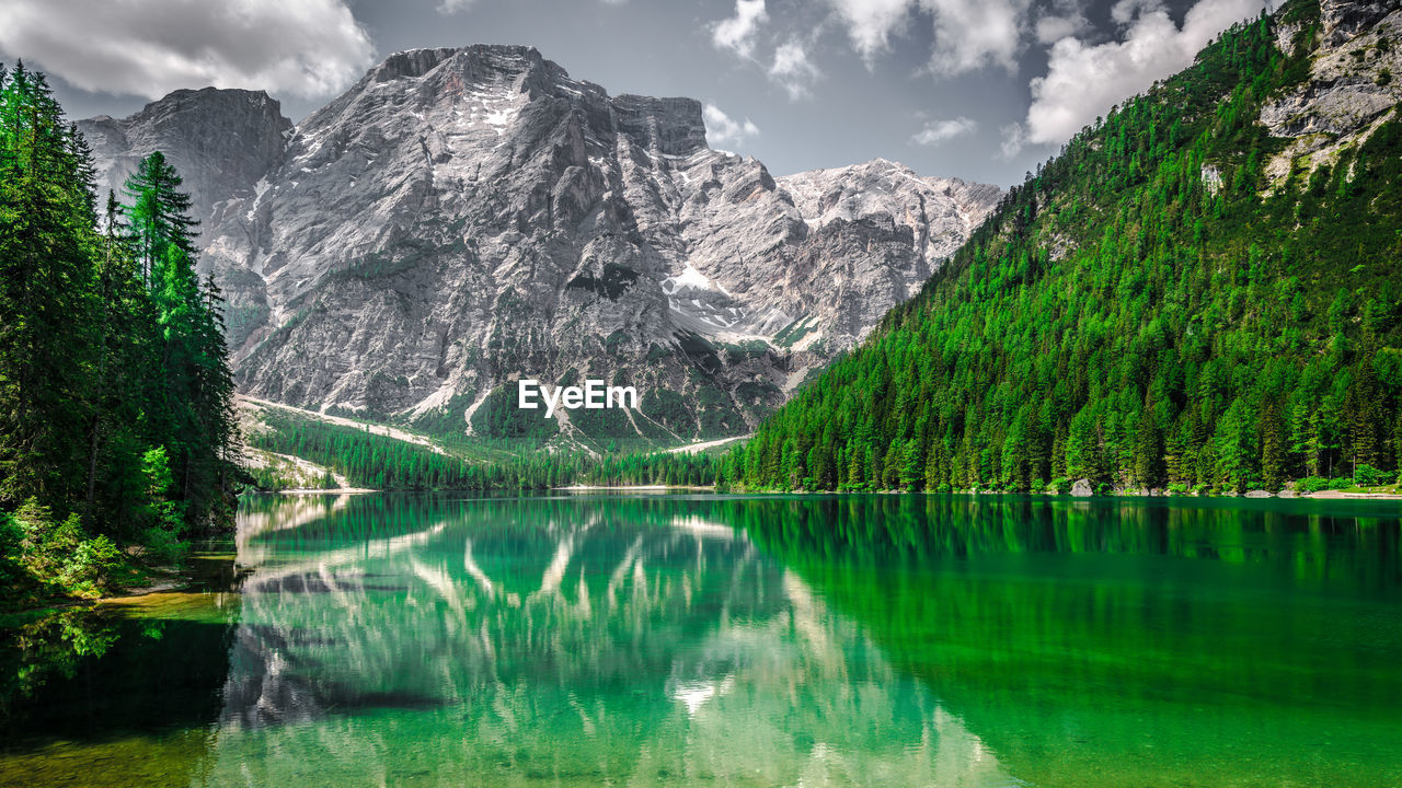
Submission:
[[[0,593],[100,592],[229,519],[222,299],[161,154],[100,201],[42,74],[0,66]]]

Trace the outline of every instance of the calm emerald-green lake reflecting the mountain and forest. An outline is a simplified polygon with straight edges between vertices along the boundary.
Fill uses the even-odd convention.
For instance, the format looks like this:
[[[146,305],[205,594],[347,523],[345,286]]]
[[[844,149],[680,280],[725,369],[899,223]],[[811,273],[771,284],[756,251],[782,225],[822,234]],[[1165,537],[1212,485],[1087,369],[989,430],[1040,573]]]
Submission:
[[[0,785],[1402,785],[1399,513],[251,499],[0,632]]]

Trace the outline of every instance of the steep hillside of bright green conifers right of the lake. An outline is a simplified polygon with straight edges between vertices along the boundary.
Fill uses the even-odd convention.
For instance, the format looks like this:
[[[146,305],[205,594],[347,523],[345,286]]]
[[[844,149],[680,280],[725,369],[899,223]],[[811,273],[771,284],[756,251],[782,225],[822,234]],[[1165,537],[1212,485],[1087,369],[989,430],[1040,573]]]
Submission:
[[[1284,182],[1266,163],[1286,140],[1258,122],[1309,76],[1318,32],[1318,3],[1290,3],[1074,137],[730,453],[722,484],[1385,478],[1402,453],[1402,122]]]

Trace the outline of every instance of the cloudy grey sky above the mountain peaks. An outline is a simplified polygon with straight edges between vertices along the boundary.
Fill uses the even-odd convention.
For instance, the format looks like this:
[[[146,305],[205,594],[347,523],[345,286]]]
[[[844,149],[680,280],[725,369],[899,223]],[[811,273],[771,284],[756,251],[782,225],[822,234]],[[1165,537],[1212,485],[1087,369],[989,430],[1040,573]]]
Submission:
[[[177,88],[300,121],[384,56],[523,43],[610,94],[687,95],[775,175],[889,158],[1008,186],[1266,0],[4,0],[0,59],[70,118]]]

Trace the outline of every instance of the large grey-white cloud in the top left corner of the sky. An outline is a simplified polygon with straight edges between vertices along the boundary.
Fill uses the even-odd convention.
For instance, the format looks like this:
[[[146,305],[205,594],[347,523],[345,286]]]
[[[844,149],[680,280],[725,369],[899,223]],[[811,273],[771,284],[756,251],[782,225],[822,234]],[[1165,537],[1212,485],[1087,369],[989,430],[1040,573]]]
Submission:
[[[342,0],[4,0],[0,53],[93,91],[335,93],[374,48]]]

